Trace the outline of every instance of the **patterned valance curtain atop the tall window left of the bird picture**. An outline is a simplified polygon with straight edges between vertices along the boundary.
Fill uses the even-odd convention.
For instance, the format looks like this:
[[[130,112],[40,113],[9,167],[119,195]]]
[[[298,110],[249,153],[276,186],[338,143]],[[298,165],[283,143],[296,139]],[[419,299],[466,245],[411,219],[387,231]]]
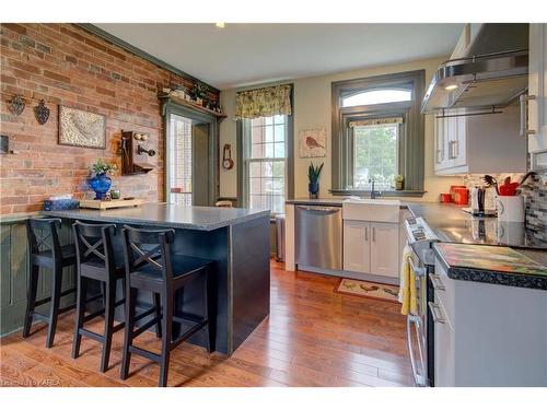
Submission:
[[[291,115],[291,84],[241,91],[235,94],[235,119]]]

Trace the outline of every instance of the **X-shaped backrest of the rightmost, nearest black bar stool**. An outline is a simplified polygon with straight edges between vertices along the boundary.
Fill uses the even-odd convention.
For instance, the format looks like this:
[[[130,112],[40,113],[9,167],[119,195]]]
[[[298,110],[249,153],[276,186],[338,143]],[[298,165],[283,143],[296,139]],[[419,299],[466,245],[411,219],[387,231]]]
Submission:
[[[140,230],[124,225],[124,257],[126,274],[147,266],[160,271],[170,282],[173,278],[171,247],[175,238],[174,230]]]

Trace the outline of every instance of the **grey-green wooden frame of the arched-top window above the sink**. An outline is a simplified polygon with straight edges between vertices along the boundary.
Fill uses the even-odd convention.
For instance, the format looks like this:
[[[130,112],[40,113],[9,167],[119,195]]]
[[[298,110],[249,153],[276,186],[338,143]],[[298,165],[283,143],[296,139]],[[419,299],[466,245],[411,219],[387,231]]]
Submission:
[[[404,190],[384,190],[385,196],[421,197],[424,194],[424,120],[420,113],[423,98],[426,70],[376,75],[365,79],[333,82],[333,195],[366,195],[369,190],[348,189],[353,178],[352,141],[348,131],[350,119],[401,116],[399,128],[399,173],[405,176]],[[412,99],[364,106],[342,107],[342,98],[357,93],[381,89],[408,89]],[[348,161],[349,160],[349,161]]]

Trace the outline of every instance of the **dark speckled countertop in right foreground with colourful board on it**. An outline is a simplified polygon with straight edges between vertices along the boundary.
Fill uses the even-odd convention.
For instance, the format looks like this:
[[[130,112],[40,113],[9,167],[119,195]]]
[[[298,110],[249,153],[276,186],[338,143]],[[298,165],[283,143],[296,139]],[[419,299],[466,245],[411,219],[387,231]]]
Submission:
[[[433,244],[449,278],[547,290],[547,268],[508,247],[469,244]]]

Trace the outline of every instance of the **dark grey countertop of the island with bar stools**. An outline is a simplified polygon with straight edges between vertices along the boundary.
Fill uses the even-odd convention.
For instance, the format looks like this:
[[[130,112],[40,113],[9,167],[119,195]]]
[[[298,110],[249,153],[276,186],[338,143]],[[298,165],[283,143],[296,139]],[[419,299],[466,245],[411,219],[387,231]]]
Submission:
[[[269,218],[270,211],[243,208],[185,207],[167,203],[146,203],[135,208],[43,211],[42,214],[88,221],[212,231],[247,222],[260,216]]]

